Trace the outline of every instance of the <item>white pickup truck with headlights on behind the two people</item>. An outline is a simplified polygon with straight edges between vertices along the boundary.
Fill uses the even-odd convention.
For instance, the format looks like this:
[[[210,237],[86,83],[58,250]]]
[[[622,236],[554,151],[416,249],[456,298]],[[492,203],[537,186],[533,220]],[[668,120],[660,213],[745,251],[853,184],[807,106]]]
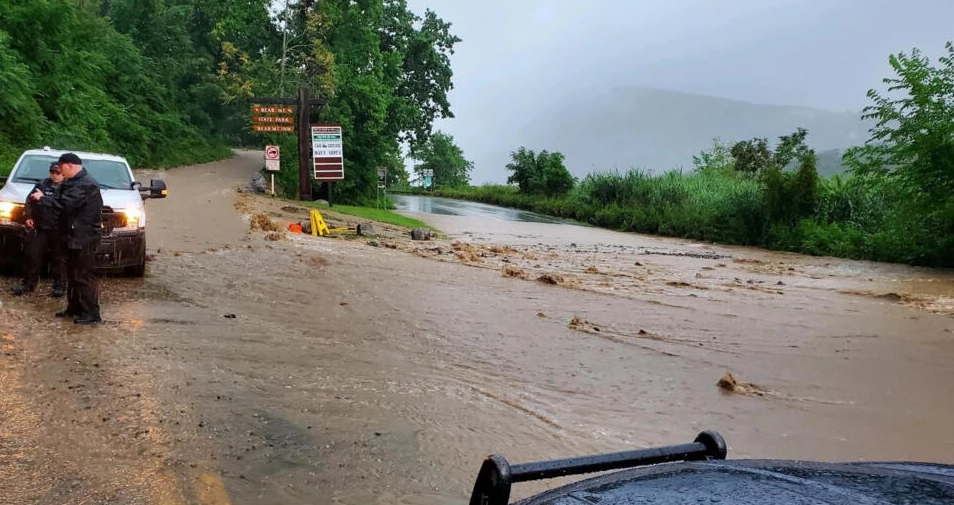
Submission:
[[[0,269],[22,264],[27,196],[34,184],[49,177],[50,163],[65,152],[49,147],[24,152],[0,188]],[[122,156],[69,152],[83,160],[83,168],[99,183],[103,195],[103,239],[96,255],[97,269],[121,269],[126,275],[142,277],[146,272],[145,200],[165,198],[165,182],[152,180],[144,188]]]

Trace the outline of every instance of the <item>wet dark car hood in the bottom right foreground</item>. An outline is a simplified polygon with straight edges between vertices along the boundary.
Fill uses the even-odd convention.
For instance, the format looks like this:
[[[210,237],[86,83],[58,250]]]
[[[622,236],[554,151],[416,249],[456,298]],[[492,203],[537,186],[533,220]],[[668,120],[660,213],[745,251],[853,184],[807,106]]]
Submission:
[[[623,470],[520,505],[954,504],[954,466],[718,460]]]

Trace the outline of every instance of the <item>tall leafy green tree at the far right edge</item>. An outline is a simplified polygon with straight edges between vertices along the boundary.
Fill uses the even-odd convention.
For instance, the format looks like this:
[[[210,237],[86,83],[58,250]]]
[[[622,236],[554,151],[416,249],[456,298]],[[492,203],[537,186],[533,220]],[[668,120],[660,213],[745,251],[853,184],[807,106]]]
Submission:
[[[937,65],[918,49],[889,57],[887,93],[868,91],[871,138],[845,153],[853,174],[896,193],[870,239],[877,257],[954,265],[954,44],[945,49]]]

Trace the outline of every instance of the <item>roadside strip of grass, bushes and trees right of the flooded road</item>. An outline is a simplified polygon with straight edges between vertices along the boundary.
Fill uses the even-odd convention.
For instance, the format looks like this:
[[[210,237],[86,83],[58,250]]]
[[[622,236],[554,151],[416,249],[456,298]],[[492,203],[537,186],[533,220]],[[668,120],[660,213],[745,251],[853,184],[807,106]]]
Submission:
[[[691,173],[593,173],[559,196],[515,171],[507,186],[439,194],[624,231],[951,267],[954,45],[938,65],[917,50],[889,61],[896,77],[885,79],[887,95],[868,92],[865,115],[877,125],[864,146],[845,152],[844,176],[818,175],[820,161],[826,175],[840,171],[836,153],[814,153],[809,132],[798,129],[774,143],[717,140]]]

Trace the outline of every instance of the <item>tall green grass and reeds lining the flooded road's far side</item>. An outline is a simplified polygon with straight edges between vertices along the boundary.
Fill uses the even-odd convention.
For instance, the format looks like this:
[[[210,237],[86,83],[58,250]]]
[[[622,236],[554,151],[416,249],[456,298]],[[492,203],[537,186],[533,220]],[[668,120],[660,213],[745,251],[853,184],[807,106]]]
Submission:
[[[723,172],[632,170],[586,176],[568,195],[544,198],[502,185],[442,189],[436,196],[576,219],[620,231],[750,245],[813,255],[954,266],[954,198],[941,210],[906,202],[887,184],[820,179],[807,214],[779,215],[767,183]],[[775,200],[773,200],[773,198]]]

